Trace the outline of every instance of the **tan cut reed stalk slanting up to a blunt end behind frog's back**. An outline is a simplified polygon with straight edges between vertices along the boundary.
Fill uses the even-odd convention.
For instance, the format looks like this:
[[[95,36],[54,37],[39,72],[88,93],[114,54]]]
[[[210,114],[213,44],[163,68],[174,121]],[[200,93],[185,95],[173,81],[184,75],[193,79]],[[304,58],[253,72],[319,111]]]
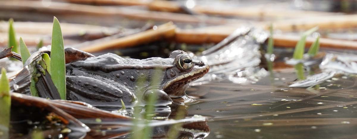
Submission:
[[[91,46],[86,46],[79,49],[92,53],[95,51],[100,51],[109,48],[126,48],[130,46],[136,46],[140,44],[150,43],[161,38],[172,38],[175,35],[175,29],[176,26],[170,22],[157,26],[156,30],[150,29],[137,34],[125,36],[107,42],[101,42],[99,44],[93,44]]]

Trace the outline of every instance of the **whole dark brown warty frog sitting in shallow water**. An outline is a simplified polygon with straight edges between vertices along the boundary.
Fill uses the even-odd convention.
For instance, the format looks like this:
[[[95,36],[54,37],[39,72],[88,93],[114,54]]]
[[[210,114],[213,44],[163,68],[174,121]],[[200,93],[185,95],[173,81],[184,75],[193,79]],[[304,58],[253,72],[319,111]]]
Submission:
[[[209,66],[181,50],[169,58],[130,59],[107,53],[93,55],[69,48],[67,53],[81,53],[87,57],[66,64],[67,99],[92,105],[118,105],[136,101],[136,91],[158,96],[158,102],[171,104],[171,98],[186,96],[191,81],[205,75]],[[70,59],[66,57],[66,60]],[[66,61],[67,62],[67,61]],[[157,76],[160,83],[153,83]]]

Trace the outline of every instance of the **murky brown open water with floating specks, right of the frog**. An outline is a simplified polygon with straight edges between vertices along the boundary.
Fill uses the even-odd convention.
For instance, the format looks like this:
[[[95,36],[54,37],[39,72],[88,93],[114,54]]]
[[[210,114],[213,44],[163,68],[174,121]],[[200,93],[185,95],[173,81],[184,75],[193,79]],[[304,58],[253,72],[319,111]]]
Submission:
[[[188,90],[200,96],[189,115],[210,120],[207,139],[355,138],[357,129],[356,78],[353,75],[324,82],[320,90],[288,88],[295,73],[275,73],[256,84],[221,81]]]

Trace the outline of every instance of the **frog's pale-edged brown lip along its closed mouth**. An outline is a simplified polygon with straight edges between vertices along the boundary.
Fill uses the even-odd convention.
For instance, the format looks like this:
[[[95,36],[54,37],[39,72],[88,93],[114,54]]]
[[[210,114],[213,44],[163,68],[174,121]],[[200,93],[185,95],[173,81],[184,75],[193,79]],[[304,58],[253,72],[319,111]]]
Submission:
[[[164,88],[163,89],[166,89],[168,86],[170,86],[170,85],[172,85],[174,83],[185,82],[184,84],[188,84],[191,81],[195,81],[197,79],[200,79],[202,76],[205,76],[206,73],[208,73],[209,70],[210,70],[210,67],[206,66],[206,67],[204,67],[202,69],[198,69],[198,70],[195,70],[195,71],[192,71],[192,72],[177,76],[175,78],[176,80],[170,80],[170,81],[166,82],[164,84]]]

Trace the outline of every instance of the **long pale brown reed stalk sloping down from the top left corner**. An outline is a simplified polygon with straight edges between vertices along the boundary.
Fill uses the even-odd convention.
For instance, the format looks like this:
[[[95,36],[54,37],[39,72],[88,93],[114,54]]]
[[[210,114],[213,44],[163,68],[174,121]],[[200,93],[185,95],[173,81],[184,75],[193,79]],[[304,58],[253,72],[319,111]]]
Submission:
[[[242,20],[225,19],[205,16],[193,16],[186,14],[165,13],[157,11],[145,11],[128,8],[112,8],[102,6],[69,4],[51,2],[49,5],[42,4],[41,1],[16,0],[0,1],[0,11],[31,11],[51,14],[87,14],[92,16],[123,16],[130,19],[174,21],[183,23],[207,23],[207,24],[238,24]],[[246,22],[246,21],[244,21]]]

